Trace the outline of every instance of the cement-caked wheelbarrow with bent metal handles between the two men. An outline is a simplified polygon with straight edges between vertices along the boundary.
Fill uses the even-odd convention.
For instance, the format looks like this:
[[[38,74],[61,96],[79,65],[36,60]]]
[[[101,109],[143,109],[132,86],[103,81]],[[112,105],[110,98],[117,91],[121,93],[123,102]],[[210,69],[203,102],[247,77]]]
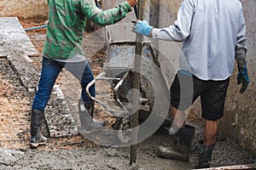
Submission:
[[[109,31],[106,33],[110,37]],[[119,130],[118,137],[123,143],[128,143],[131,140],[131,135],[125,134],[127,130],[131,128],[131,111],[132,111],[132,81],[134,77],[133,64],[135,59],[135,45],[136,42],[112,42],[108,41],[108,47],[106,49],[107,59],[103,65],[102,72],[88,84],[86,93],[99,105],[102,105],[111,113],[116,121],[113,123],[113,129]],[[151,114],[160,117],[159,120],[151,120],[152,123],[162,122],[168,119],[169,108],[169,90],[166,85],[166,80],[160,69],[158,63],[156,49],[151,42],[143,42],[143,55],[141,66],[141,83],[140,83],[140,105],[137,108],[139,110],[139,119],[144,122]],[[96,81],[108,81],[113,89],[113,98],[115,104],[119,105],[119,109],[116,107],[111,108],[102,102],[101,99],[97,99],[90,95],[89,88],[96,83]],[[155,116],[154,116],[155,117]],[[155,119],[155,118],[154,118]]]

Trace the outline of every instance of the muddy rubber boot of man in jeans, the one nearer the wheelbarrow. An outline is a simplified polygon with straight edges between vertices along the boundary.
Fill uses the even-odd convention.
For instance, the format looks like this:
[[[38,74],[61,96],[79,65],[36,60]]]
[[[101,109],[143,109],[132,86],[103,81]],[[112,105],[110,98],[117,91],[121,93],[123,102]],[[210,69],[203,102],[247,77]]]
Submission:
[[[94,106],[93,106],[94,107]],[[84,102],[79,102],[79,119],[81,122],[80,133],[92,133],[102,130],[103,126],[94,122],[91,115],[93,115],[92,105]]]

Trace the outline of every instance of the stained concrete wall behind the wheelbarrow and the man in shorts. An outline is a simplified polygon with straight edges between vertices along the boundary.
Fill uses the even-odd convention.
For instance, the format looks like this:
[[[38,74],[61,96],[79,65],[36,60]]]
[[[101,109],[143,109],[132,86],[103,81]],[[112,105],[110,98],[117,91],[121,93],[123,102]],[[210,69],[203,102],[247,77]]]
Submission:
[[[113,0],[111,3],[105,4],[103,1],[103,4],[106,8],[110,8],[119,2],[120,0]],[[144,20],[148,20],[150,25],[154,27],[163,28],[173,25],[174,21],[177,20],[177,10],[182,0],[147,0],[145,2]],[[235,65],[234,74],[230,77],[230,88],[226,99],[224,118],[220,121],[220,131],[231,139],[235,139],[236,142],[256,156],[256,131],[254,130],[256,126],[256,1],[241,0],[241,4],[247,24],[247,68],[250,84],[244,94],[239,93],[241,86],[237,85]],[[134,20],[134,13],[128,14],[128,17],[119,22],[118,25],[109,26],[113,41],[135,40],[135,34],[131,32],[131,20]],[[166,84],[170,87],[178,69],[181,43],[159,40],[154,41],[154,47],[159,52],[157,62],[160,63]],[[201,115],[200,108],[201,104],[197,100],[192,110]]]

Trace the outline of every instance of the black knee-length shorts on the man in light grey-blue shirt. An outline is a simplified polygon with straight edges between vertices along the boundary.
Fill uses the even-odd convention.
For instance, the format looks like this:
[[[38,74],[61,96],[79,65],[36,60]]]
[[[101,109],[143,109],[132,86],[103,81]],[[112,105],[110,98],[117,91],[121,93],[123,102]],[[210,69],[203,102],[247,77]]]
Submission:
[[[171,105],[184,111],[201,96],[202,117],[217,121],[224,116],[224,102],[230,78],[224,81],[203,81],[195,76],[177,72],[170,89]]]

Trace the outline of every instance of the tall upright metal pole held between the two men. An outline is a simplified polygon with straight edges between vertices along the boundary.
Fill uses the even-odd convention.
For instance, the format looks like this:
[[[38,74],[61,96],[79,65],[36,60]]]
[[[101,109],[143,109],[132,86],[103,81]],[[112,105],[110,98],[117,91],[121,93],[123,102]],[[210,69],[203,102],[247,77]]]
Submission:
[[[136,8],[135,8],[136,10]],[[143,0],[138,0],[138,11],[135,11],[138,15],[138,20],[143,20]],[[141,56],[143,54],[143,36],[136,35],[136,48],[135,48],[135,64],[134,64],[134,82],[133,88],[137,89],[132,94],[132,113],[131,116],[131,156],[130,165],[137,161],[137,134],[138,134],[138,105],[139,105],[139,89],[140,89],[140,70],[141,70]]]

